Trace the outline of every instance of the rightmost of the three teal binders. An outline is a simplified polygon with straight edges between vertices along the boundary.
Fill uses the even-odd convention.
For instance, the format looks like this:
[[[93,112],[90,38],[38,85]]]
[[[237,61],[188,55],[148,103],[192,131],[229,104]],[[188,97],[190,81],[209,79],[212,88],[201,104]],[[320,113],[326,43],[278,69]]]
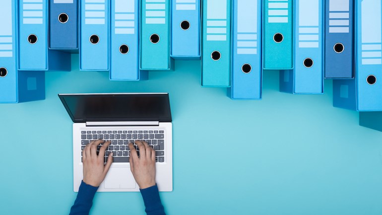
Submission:
[[[293,68],[293,0],[264,0],[264,70]]]

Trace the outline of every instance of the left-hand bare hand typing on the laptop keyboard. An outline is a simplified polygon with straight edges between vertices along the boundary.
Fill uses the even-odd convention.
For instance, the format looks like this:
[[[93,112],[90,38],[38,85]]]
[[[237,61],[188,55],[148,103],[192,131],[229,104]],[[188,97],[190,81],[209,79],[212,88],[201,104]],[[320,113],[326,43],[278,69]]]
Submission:
[[[104,143],[104,141],[90,142],[82,151],[83,182],[93,187],[100,186],[113,162],[113,153],[110,153],[106,165],[104,164],[105,150],[110,145],[110,141],[101,146],[97,155],[97,146],[100,143]]]

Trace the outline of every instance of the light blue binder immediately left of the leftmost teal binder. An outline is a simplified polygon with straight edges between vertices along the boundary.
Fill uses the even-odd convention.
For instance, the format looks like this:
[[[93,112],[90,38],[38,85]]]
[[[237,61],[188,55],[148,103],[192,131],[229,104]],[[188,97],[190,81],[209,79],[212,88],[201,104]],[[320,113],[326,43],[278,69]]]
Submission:
[[[147,79],[139,72],[139,0],[111,0],[111,80]]]

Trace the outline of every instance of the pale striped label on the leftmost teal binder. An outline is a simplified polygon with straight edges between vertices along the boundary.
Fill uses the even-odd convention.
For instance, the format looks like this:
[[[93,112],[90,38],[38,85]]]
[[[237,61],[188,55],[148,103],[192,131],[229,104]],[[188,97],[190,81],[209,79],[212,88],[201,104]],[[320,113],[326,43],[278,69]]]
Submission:
[[[146,24],[166,24],[166,0],[146,0]]]

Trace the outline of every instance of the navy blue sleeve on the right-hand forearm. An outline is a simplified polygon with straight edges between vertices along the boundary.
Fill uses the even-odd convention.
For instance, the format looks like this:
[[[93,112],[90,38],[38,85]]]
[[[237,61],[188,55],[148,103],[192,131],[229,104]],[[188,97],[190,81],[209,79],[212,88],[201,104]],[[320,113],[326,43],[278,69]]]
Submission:
[[[152,186],[140,190],[143,197],[144,206],[147,215],[166,215],[162,202],[159,197],[158,186]]]

